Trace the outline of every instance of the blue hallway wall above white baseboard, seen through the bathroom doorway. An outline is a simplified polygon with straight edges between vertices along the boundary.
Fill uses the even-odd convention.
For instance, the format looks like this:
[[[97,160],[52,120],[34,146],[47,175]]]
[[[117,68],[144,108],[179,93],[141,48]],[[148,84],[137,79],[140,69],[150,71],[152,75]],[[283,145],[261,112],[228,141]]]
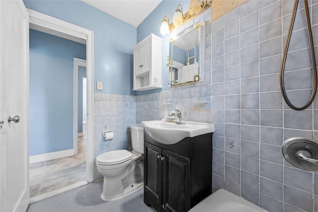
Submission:
[[[30,155],[73,148],[73,58],[86,46],[30,30]]]

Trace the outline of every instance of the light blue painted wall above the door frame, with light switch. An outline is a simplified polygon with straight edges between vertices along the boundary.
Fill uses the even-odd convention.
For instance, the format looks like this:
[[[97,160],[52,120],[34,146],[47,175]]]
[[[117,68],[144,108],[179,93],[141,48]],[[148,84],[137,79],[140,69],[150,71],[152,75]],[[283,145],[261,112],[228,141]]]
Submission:
[[[95,93],[135,95],[133,48],[137,28],[80,0],[24,0],[27,8],[56,17],[94,32]]]

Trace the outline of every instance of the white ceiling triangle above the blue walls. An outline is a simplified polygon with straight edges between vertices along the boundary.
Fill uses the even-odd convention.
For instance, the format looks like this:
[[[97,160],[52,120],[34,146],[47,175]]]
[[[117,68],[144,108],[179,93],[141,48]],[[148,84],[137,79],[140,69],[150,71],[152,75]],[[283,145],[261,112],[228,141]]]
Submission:
[[[126,23],[138,26],[161,0],[82,0]]]

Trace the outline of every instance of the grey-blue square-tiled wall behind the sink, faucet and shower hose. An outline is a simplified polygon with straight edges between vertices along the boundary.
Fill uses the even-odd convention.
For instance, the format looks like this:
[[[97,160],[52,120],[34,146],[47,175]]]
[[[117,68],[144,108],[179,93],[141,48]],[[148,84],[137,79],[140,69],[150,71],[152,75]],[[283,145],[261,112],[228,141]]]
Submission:
[[[318,1],[309,0],[309,5],[315,30]],[[186,114],[182,119],[216,124],[213,190],[226,188],[270,212],[318,212],[318,173],[294,168],[280,153],[288,138],[318,139],[318,97],[305,111],[293,111],[280,92],[281,54],[292,7],[292,0],[249,0],[213,21],[206,27],[211,29],[206,39],[212,41],[206,41],[205,82],[137,96],[136,122],[166,116],[173,107],[163,103],[173,99],[174,108]],[[285,73],[287,93],[296,105],[306,103],[311,93],[304,27],[303,15],[298,15]],[[212,111],[198,110],[194,102],[200,96],[212,96]],[[157,114],[145,114],[150,100],[157,101]]]

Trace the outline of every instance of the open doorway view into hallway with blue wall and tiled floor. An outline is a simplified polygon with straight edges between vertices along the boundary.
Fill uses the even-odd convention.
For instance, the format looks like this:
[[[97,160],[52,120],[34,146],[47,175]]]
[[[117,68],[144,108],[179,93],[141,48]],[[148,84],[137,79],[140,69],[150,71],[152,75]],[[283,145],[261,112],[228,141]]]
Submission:
[[[29,40],[32,198],[86,181],[87,140],[78,142],[86,61],[74,59],[86,59],[86,46],[33,29]]]

